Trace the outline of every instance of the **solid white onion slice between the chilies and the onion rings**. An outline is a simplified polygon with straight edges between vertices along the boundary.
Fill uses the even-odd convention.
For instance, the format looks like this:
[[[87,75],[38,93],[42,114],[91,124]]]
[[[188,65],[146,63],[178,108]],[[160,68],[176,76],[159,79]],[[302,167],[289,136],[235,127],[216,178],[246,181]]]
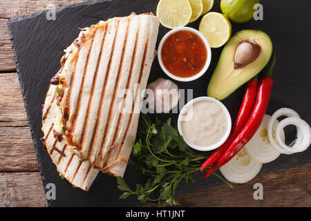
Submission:
[[[271,119],[270,115],[265,115],[263,117],[263,121],[261,122],[261,126],[259,126],[258,130],[254,134],[251,140],[245,144],[244,148],[249,157],[256,160],[257,162],[261,162],[262,164],[272,162],[275,160],[281,153],[276,151],[276,149],[270,143],[270,139],[267,136],[267,126]],[[278,126],[279,121],[276,119],[272,124],[272,138],[274,141],[276,126]],[[285,133],[280,133],[280,138],[283,142],[285,142]]]

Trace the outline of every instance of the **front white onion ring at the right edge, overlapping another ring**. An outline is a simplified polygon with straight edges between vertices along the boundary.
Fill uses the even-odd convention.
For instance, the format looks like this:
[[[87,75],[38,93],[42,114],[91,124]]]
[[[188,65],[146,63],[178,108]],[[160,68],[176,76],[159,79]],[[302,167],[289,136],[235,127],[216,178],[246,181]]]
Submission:
[[[285,126],[294,125],[297,128],[297,133],[302,134],[302,138],[293,146],[286,145],[278,136],[280,133],[284,133]],[[276,140],[281,147],[291,153],[298,153],[305,151],[311,144],[311,129],[307,122],[299,117],[288,117],[283,119],[276,127]]]

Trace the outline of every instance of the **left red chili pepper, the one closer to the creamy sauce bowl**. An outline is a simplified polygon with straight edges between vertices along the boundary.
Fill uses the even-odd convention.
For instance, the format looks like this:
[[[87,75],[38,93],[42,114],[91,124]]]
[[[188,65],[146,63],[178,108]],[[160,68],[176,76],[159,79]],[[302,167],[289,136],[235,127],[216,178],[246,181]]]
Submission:
[[[214,164],[229,148],[230,144],[234,141],[238,133],[241,132],[243,126],[245,126],[249,115],[252,113],[252,108],[254,106],[256,100],[256,91],[257,91],[258,79],[254,77],[250,79],[245,86],[245,93],[243,97],[243,101],[241,104],[241,108],[238,111],[238,116],[236,117],[236,122],[234,122],[234,126],[232,127],[232,131],[228,137],[228,139],[218,147],[209,158],[202,164],[201,172],[211,164]]]

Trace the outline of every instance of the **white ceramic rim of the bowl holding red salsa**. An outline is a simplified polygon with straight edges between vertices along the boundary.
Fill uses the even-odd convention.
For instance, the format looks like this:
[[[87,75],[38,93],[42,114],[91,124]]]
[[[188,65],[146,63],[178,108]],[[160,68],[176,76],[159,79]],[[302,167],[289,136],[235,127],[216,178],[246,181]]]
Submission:
[[[202,39],[202,41],[205,44],[206,50],[207,50],[207,59],[205,62],[205,66],[202,68],[202,70],[192,76],[192,77],[177,77],[176,75],[173,75],[172,73],[169,72],[169,70],[167,70],[167,68],[165,68],[163,62],[162,62],[162,46],[164,44],[164,41],[173,33],[178,32],[180,30],[188,30],[190,32],[194,32],[196,35],[198,35],[198,37],[200,37],[200,39]],[[198,79],[199,77],[201,77],[206,71],[207,68],[209,68],[209,64],[211,63],[211,47],[209,46],[209,42],[207,41],[207,39],[204,37],[204,35],[202,35],[201,32],[199,32],[198,30],[194,29],[194,28],[189,28],[189,27],[182,27],[182,28],[175,28],[173,30],[170,30],[169,32],[167,32],[166,35],[164,35],[164,37],[161,39],[159,47],[158,47],[158,61],[160,63],[160,66],[162,68],[162,70],[164,71],[164,73],[166,73],[169,77],[176,79],[177,81],[194,81],[195,79]]]

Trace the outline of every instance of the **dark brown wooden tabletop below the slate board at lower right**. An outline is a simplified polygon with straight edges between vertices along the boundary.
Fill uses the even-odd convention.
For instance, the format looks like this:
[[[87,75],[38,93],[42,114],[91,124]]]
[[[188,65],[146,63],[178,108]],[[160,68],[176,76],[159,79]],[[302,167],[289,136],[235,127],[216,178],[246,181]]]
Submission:
[[[258,175],[246,184],[214,186],[176,196],[182,206],[310,206],[311,163]],[[254,200],[254,184],[263,184],[263,200]],[[158,206],[144,204],[143,206]]]

